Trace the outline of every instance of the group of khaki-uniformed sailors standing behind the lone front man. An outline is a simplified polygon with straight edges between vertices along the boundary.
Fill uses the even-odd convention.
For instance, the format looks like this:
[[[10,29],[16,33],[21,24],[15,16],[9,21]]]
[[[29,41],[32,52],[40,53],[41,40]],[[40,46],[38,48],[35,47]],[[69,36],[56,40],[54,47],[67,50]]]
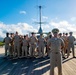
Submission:
[[[70,51],[72,49],[73,57],[75,57],[74,50],[74,41],[75,37],[72,36],[72,32],[68,33],[59,33],[58,38],[64,41],[64,48],[62,49],[62,57],[67,58],[70,56]],[[28,34],[22,36],[18,32],[6,33],[6,37],[3,42],[5,43],[5,56],[10,58],[22,58],[22,57],[45,57],[49,56],[51,52],[51,46],[48,48],[48,42],[53,37],[51,32],[47,37],[43,37],[43,34],[40,34],[40,37],[37,38],[34,32],[31,33],[29,37]]]

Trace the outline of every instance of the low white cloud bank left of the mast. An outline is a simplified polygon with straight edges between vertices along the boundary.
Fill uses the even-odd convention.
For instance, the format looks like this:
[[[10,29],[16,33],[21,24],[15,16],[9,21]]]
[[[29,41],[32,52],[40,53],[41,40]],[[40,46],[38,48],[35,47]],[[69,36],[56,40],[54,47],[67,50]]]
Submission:
[[[18,31],[19,34],[24,35],[32,31],[37,32],[37,29],[35,29],[33,26],[27,23],[17,23],[17,24],[6,25],[0,22],[0,37],[5,37],[6,32],[15,33],[16,31]]]

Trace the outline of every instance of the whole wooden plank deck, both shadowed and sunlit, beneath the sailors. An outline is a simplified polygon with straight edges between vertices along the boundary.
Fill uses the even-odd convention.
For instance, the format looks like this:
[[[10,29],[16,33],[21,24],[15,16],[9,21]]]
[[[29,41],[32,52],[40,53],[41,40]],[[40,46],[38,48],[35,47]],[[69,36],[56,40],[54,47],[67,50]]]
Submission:
[[[72,55],[63,60],[63,75],[76,75],[76,58]],[[50,59],[34,58],[34,59],[14,59],[0,57],[0,75],[49,75]],[[55,68],[57,74],[57,67]]]

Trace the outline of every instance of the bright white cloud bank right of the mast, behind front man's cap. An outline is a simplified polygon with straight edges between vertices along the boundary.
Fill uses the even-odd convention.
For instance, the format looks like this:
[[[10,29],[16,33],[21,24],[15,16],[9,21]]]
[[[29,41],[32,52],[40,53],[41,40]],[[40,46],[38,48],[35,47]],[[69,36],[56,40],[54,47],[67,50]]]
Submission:
[[[56,22],[56,21],[50,21],[49,24],[43,24],[42,25],[42,29],[44,32],[49,32],[51,31],[53,28],[58,28],[60,30],[60,32],[70,32],[72,31],[74,33],[74,36],[76,36],[76,24],[71,24],[70,22],[68,21],[59,21],[59,22]]]

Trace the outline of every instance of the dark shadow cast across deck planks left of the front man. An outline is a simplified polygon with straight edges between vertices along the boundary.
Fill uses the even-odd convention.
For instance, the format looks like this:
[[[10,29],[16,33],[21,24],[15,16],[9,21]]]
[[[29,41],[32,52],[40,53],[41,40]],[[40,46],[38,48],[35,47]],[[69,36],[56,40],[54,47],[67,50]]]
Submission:
[[[47,57],[15,60],[0,58],[0,75],[42,75],[50,69],[49,63]]]

